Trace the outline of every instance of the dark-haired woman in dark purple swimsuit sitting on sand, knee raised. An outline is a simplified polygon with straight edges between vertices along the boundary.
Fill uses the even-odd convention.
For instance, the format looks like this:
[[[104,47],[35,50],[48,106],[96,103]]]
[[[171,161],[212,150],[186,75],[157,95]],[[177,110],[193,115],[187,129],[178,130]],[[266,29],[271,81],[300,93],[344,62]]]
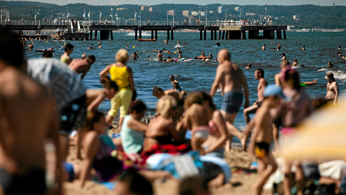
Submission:
[[[104,114],[101,112],[91,112],[85,120],[83,130],[82,146],[84,149],[84,159],[80,164],[72,165],[64,163],[64,168],[68,173],[69,180],[80,179],[80,187],[84,187],[85,181],[91,177],[91,169],[95,169],[99,181],[113,181],[125,170],[126,165],[111,153],[115,149],[108,136],[100,137],[106,132],[107,124]],[[109,138],[108,138],[109,139]],[[139,170],[139,174],[148,180],[157,178],[172,178],[165,171]]]

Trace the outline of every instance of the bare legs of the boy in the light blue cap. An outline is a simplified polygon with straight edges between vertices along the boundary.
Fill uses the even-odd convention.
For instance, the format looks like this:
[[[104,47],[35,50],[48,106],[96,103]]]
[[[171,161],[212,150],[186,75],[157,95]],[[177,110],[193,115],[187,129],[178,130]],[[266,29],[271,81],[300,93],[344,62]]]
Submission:
[[[267,179],[276,171],[277,164],[275,162],[274,157],[271,154],[267,154],[263,159],[258,159],[258,167],[260,167],[260,164],[263,166],[263,171],[261,171],[260,177],[257,180],[257,183],[254,185],[255,188],[255,194],[261,194],[264,184],[266,183]],[[272,168],[268,169],[267,166],[271,165]]]

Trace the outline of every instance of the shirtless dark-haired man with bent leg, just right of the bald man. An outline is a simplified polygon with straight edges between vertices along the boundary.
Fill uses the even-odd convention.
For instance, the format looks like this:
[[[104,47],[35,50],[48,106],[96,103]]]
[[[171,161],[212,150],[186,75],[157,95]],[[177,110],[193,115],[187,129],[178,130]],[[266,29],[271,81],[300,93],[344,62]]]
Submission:
[[[259,108],[262,105],[262,102],[264,100],[263,92],[264,88],[268,85],[267,81],[264,79],[264,71],[263,69],[259,68],[255,70],[255,79],[258,80],[258,86],[257,86],[257,101],[255,103],[244,109],[244,118],[245,122],[249,123],[250,121],[250,116],[249,114],[255,113],[257,108]]]

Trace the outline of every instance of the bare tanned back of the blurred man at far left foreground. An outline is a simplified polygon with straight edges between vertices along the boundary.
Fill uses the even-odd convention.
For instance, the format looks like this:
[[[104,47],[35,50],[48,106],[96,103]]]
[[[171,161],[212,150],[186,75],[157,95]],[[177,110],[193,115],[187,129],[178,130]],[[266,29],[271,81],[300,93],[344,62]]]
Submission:
[[[10,173],[30,166],[44,168],[43,140],[55,121],[54,106],[43,86],[15,68],[1,71],[0,167]]]

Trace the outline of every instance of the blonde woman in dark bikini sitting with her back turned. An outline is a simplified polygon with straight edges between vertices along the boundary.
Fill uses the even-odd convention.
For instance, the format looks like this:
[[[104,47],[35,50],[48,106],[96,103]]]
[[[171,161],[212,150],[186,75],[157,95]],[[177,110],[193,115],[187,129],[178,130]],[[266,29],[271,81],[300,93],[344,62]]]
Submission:
[[[156,117],[148,124],[143,142],[143,151],[155,144],[172,144],[181,141],[171,118],[176,116],[176,100],[172,96],[160,98],[156,106]]]

